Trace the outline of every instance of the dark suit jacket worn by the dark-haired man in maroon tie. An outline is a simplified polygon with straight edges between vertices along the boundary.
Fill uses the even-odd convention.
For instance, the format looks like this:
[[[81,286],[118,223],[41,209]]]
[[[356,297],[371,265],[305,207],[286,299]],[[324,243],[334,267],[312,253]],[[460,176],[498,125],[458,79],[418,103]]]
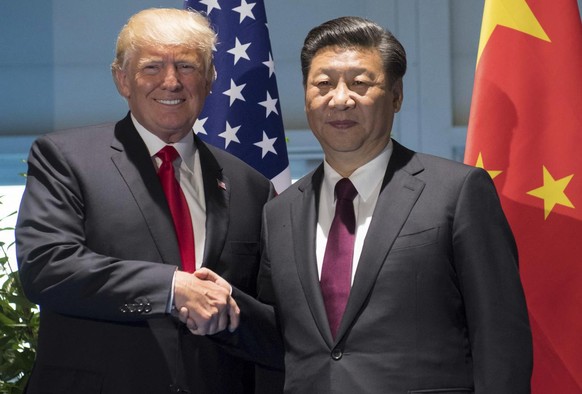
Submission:
[[[336,340],[316,267],[322,179],[265,206],[259,300],[273,307],[234,294],[239,347],[276,365],[280,333],[286,393],[529,393],[516,246],[487,173],[394,143]]]

